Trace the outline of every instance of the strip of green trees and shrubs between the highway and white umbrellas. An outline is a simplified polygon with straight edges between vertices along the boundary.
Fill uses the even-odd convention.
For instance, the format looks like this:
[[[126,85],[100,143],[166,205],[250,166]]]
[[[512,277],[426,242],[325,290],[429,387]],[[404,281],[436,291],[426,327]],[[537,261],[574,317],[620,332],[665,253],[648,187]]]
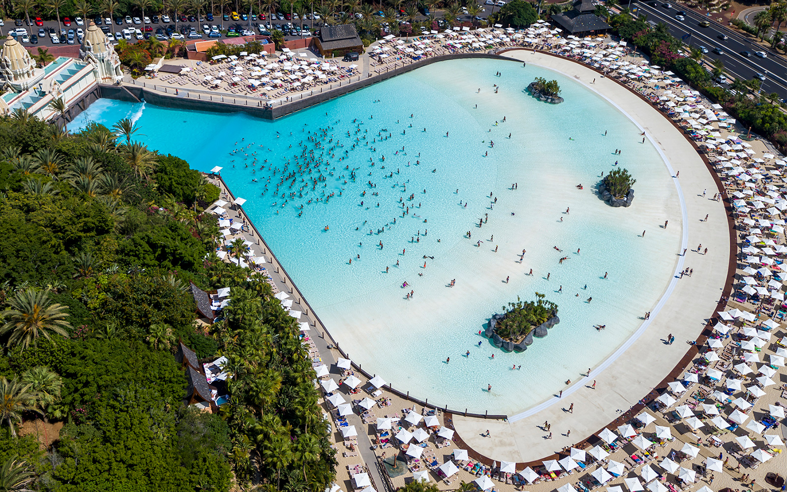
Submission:
[[[609,23],[623,39],[648,54],[652,64],[674,71],[711,101],[722,105],[741,124],[770,139],[782,152],[787,151],[787,113],[779,109],[777,94],[759,93],[759,80],[735,80],[728,91],[715,85],[711,72],[700,65],[702,53],[683,46],[681,40],[669,34],[666,24],[651,28],[644,19],[634,19],[626,9],[612,16]],[[723,65],[716,64],[712,71],[719,76],[722,69]]]

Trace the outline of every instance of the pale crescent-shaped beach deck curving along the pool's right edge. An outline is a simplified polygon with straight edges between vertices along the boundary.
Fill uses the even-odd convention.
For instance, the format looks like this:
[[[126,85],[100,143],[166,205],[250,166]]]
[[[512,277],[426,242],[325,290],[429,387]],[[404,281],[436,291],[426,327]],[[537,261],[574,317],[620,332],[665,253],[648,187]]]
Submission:
[[[548,457],[599,431],[636,405],[681,361],[689,349],[687,342],[700,335],[722,295],[730,259],[730,229],[724,205],[711,199],[718,190],[711,172],[693,146],[656,108],[578,62],[531,50],[512,50],[506,56],[571,76],[618,106],[646,132],[668,165],[680,172],[675,180],[682,192],[683,247],[688,251],[679,258],[678,271],[694,270],[691,277],[674,279],[662,296],[663,301],[654,306],[650,322],[589,377],[578,374],[572,379],[562,398],[556,395],[509,420],[453,416],[456,431],[476,452],[497,461],[529,462]],[[705,190],[708,193],[703,197]],[[653,215],[644,220],[652,224],[650,229],[655,233],[664,220],[670,220],[674,226],[680,224],[681,215],[682,211],[676,208],[673,216]],[[700,243],[703,250],[708,248],[707,254],[695,250]],[[675,251],[676,256],[680,253],[682,250]],[[664,342],[669,334],[675,337],[673,345]],[[596,389],[591,387],[594,380]],[[571,404],[574,410],[568,412]],[[545,422],[552,426],[552,439],[539,428]],[[482,436],[486,431],[490,437]],[[571,433],[567,435],[567,431]]]

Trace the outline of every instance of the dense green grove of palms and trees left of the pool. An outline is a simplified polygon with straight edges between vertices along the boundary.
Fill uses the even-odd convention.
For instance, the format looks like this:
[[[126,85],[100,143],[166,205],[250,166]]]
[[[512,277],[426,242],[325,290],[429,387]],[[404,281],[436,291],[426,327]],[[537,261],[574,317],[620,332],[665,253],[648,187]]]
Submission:
[[[0,119],[0,484],[323,490],[334,451],[297,322],[216,257],[218,188],[139,135]],[[232,287],[209,327],[190,282]],[[179,340],[228,358],[218,414],[183,405]]]

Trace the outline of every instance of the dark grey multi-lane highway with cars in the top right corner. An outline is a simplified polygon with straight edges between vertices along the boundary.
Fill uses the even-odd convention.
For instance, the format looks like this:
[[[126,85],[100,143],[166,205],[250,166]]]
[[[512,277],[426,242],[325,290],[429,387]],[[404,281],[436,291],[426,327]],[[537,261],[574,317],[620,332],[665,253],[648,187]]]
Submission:
[[[762,73],[766,76],[762,90],[769,94],[775,92],[780,98],[787,98],[787,61],[778,57],[773,51],[752,43],[737,32],[724,28],[710,18],[678,4],[667,9],[664,2],[636,0],[631,2],[630,8],[637,9],[637,16],[641,17],[646,13],[648,20],[667,24],[670,34],[678,39],[683,39],[685,35],[690,34],[688,38],[683,39],[684,43],[690,46],[705,46],[708,48],[705,57],[721,60],[726,72],[739,79],[750,80],[757,73]],[[685,10],[685,20],[675,19],[680,10]],[[708,20],[711,23],[710,27],[700,27],[700,21],[703,20]],[[719,35],[726,35],[728,39],[722,40]],[[723,54],[714,53],[714,48],[722,50]],[[741,54],[742,51],[748,51],[752,56],[747,58]],[[755,51],[765,51],[768,57],[756,57]]]

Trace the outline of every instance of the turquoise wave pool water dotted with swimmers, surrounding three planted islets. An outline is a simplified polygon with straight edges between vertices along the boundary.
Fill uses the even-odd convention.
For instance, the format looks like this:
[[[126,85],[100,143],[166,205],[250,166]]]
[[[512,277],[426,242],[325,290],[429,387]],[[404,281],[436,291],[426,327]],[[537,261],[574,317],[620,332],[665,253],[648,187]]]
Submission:
[[[531,98],[535,76],[558,80],[565,102]],[[275,122],[99,100],[70,126],[124,117],[153,149],[223,166],[345,352],[438,405],[510,415],[548,398],[637,329],[674,270],[678,194],[660,154],[609,102],[544,68],[445,61]],[[592,191],[616,161],[637,179],[627,209]],[[560,306],[547,338],[504,353],[478,335],[536,291]]]

